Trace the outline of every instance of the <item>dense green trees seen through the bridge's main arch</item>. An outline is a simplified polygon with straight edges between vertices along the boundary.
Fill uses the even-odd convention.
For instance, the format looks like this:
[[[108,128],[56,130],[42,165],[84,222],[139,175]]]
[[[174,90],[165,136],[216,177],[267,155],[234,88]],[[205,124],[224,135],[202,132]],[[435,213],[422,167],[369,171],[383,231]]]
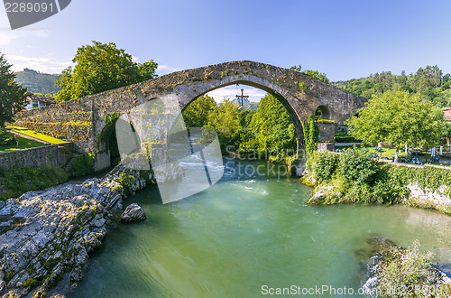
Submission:
[[[213,98],[202,96],[182,114],[187,127],[214,129],[223,152],[296,152],[297,135],[290,115],[280,99],[271,94],[262,98],[256,112],[240,108],[228,99],[216,106]]]

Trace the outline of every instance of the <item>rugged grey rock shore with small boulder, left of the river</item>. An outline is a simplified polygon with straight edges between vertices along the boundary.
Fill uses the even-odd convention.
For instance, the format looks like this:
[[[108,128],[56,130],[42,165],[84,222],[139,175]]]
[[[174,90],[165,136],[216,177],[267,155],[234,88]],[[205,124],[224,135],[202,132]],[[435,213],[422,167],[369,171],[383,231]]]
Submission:
[[[76,284],[123,200],[152,183],[151,171],[119,164],[101,179],[0,201],[0,297],[46,297],[63,280]],[[145,218],[140,210],[133,205],[123,220]]]

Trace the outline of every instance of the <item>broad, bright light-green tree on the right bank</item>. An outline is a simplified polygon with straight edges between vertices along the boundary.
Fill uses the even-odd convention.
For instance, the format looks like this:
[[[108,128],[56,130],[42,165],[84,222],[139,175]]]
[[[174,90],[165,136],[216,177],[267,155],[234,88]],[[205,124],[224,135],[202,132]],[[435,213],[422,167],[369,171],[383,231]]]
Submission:
[[[437,144],[445,129],[441,109],[406,91],[390,91],[371,98],[357,113],[345,121],[350,135],[368,144],[394,145],[396,155],[403,144]]]

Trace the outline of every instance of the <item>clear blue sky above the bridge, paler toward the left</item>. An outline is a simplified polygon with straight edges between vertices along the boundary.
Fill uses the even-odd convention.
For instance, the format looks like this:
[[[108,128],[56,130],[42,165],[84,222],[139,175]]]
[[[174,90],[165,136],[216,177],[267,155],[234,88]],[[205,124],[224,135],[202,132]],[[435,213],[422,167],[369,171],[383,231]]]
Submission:
[[[94,40],[115,42],[135,61],[157,61],[160,75],[239,60],[300,64],[331,80],[436,64],[447,73],[450,16],[448,0],[72,0],[59,14],[14,31],[1,8],[0,52],[14,70],[50,73]]]

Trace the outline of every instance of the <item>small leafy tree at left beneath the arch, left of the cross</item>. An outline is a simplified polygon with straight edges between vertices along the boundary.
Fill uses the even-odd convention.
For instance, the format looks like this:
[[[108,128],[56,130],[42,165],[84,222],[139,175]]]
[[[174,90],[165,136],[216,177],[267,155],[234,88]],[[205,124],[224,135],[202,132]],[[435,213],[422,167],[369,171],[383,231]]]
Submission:
[[[216,101],[207,95],[193,100],[182,112],[185,125],[189,127],[203,127],[207,125],[208,114],[216,107]]]

